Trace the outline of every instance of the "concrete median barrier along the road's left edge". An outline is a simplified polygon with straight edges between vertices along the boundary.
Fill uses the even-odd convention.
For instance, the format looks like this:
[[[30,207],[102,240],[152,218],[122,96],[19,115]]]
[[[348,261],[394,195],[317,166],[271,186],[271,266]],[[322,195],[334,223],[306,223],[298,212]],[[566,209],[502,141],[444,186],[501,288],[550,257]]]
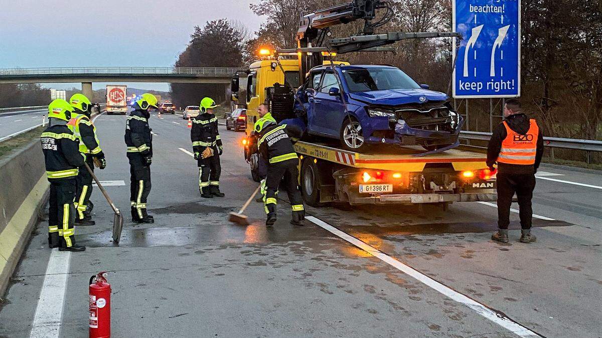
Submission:
[[[0,297],[48,199],[40,141],[0,159]]]

